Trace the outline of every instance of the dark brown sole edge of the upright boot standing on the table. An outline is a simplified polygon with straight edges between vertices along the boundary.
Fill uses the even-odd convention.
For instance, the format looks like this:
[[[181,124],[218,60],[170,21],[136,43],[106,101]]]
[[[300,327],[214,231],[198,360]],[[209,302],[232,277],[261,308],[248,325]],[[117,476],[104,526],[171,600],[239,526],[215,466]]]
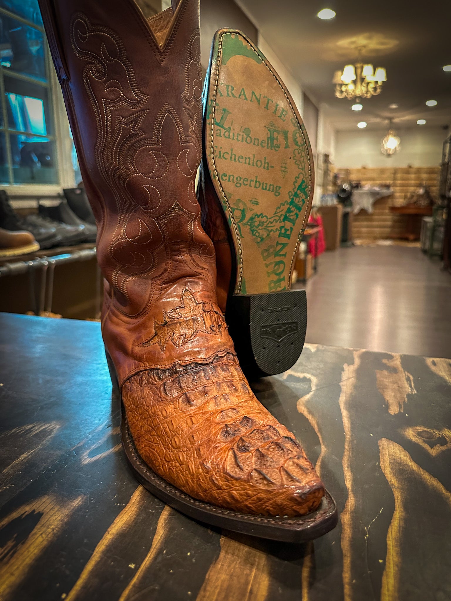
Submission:
[[[114,365],[108,352],[105,351],[105,354],[113,392],[121,399]],[[133,442],[122,399],[121,413],[122,446],[133,475],[150,493],[180,513],[211,526],[285,543],[305,543],[326,534],[337,525],[336,504],[327,490],[318,509],[300,517],[270,517],[239,513],[192,498],[159,477],[141,458]]]

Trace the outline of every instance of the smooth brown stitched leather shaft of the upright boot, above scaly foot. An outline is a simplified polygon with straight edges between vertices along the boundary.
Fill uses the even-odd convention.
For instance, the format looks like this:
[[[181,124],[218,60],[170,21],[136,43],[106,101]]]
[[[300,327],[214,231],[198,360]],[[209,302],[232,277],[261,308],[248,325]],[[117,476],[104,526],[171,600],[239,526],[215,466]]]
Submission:
[[[41,10],[98,225],[102,332],[120,382],[233,352],[194,188],[198,0],[148,21],[131,0],[41,0]]]

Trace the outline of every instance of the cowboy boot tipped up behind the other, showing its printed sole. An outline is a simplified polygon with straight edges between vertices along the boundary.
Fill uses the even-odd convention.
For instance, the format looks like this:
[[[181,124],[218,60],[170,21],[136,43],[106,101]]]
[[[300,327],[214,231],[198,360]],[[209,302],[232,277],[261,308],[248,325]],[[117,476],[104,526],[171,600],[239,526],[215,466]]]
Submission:
[[[290,291],[313,197],[307,133],[271,64],[233,29],[213,39],[203,105],[198,197],[219,306],[244,373],[281,373],[307,329],[305,290]]]

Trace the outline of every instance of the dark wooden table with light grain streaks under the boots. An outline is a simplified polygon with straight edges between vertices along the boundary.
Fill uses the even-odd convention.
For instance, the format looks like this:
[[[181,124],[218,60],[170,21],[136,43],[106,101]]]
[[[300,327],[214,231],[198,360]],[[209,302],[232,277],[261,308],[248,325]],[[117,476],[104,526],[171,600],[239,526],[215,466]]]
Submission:
[[[153,498],[121,451],[98,323],[0,314],[2,601],[451,599],[451,361],[306,345],[254,385],[341,514],[284,545]]]

